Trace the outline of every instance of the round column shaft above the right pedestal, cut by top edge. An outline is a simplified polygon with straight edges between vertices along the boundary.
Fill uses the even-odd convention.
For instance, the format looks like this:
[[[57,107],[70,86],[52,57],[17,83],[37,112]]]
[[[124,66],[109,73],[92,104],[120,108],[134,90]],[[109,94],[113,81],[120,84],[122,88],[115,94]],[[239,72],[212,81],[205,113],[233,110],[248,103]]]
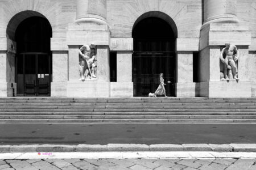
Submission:
[[[204,0],[204,24],[237,23],[237,0]]]

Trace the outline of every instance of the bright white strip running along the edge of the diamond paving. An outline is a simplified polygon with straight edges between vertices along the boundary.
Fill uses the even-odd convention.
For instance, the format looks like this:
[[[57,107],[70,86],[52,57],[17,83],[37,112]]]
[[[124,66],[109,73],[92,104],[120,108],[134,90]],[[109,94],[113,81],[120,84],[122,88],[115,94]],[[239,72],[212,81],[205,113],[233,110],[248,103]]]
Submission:
[[[256,159],[256,152],[19,152],[0,159]]]

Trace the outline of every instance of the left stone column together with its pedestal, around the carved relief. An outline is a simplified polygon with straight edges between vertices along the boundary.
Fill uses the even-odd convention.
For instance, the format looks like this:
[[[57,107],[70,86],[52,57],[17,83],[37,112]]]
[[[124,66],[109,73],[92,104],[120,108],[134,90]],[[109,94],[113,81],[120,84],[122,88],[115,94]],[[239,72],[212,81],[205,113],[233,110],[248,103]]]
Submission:
[[[77,0],[76,20],[67,31],[68,97],[110,96],[109,43],[106,0]],[[97,48],[97,78],[79,81],[79,48],[90,44]]]

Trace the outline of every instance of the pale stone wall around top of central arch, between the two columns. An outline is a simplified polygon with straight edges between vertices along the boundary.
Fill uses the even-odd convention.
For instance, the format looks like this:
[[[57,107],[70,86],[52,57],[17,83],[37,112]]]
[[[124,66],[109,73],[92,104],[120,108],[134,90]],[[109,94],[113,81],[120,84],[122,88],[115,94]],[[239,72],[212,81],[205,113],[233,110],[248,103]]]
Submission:
[[[111,37],[131,37],[133,26],[142,14],[160,11],[177,26],[177,37],[199,37],[202,23],[201,0],[127,0],[107,1],[107,21]]]

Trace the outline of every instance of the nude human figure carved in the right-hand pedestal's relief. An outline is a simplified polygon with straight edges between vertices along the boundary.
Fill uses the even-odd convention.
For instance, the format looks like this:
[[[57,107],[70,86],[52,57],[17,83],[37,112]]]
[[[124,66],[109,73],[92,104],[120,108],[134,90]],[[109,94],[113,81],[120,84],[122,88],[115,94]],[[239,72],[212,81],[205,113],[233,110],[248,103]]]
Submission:
[[[229,43],[225,44],[225,48],[221,50],[220,61],[224,63],[224,78],[229,80],[228,70],[232,70],[233,78],[237,78],[237,66],[236,62],[238,61],[239,52],[235,45],[230,45]]]

